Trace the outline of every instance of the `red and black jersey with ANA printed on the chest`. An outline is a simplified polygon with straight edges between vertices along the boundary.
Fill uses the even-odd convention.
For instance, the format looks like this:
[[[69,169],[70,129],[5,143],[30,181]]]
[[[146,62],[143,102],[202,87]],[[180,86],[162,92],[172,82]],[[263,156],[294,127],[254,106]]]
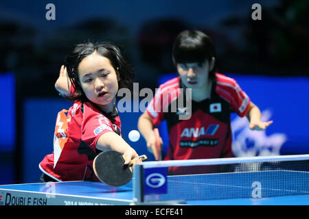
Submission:
[[[180,120],[183,108],[178,107],[179,103],[174,104],[176,110],[172,108],[179,101],[180,88],[183,88],[180,77],[163,83],[147,107],[153,125],[162,120],[168,124],[170,145],[165,160],[233,157],[230,115],[247,114],[250,105],[247,94],[234,79],[216,73],[210,99],[192,101],[191,118]]]

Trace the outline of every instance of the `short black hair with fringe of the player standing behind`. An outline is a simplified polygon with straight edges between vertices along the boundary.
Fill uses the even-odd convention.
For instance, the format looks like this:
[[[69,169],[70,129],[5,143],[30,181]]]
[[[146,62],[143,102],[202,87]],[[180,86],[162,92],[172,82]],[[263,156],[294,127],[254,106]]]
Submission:
[[[198,62],[202,65],[206,60],[211,62],[215,57],[216,51],[211,38],[202,31],[185,30],[182,31],[174,41],[172,49],[172,60],[174,66],[177,64],[186,64]],[[209,78],[214,79],[216,73],[216,60],[214,68],[209,71]]]

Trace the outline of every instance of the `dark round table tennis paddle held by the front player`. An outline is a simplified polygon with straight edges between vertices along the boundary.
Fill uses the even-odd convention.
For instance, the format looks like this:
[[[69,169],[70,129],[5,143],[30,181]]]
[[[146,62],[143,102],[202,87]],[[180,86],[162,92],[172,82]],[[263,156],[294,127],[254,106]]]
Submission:
[[[111,186],[121,186],[128,183],[132,177],[131,167],[137,159],[147,159],[141,155],[132,159],[130,164],[124,164],[124,157],[117,151],[104,151],[93,160],[93,170],[100,181]]]

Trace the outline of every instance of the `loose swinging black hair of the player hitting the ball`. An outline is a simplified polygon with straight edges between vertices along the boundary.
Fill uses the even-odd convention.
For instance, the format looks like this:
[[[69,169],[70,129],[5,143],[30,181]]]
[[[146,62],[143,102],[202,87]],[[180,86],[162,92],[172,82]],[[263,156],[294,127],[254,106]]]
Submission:
[[[132,66],[124,59],[120,53],[119,48],[108,41],[84,44],[77,44],[73,51],[67,55],[65,59],[65,66],[67,67],[67,74],[74,88],[74,93],[67,96],[70,101],[88,101],[87,96],[82,90],[80,79],[78,77],[78,65],[82,60],[97,52],[98,54],[108,58],[116,73],[119,73],[118,88],[132,89],[135,72]]]

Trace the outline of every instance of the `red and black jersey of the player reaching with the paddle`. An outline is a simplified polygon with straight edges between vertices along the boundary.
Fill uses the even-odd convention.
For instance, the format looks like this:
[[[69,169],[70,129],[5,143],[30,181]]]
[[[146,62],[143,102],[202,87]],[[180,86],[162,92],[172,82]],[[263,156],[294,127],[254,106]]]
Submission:
[[[57,181],[98,181],[92,167],[93,159],[100,153],[95,145],[108,131],[120,135],[116,107],[111,114],[104,114],[92,103],[77,101],[69,110],[58,113],[54,152],[46,155],[39,167]]]

